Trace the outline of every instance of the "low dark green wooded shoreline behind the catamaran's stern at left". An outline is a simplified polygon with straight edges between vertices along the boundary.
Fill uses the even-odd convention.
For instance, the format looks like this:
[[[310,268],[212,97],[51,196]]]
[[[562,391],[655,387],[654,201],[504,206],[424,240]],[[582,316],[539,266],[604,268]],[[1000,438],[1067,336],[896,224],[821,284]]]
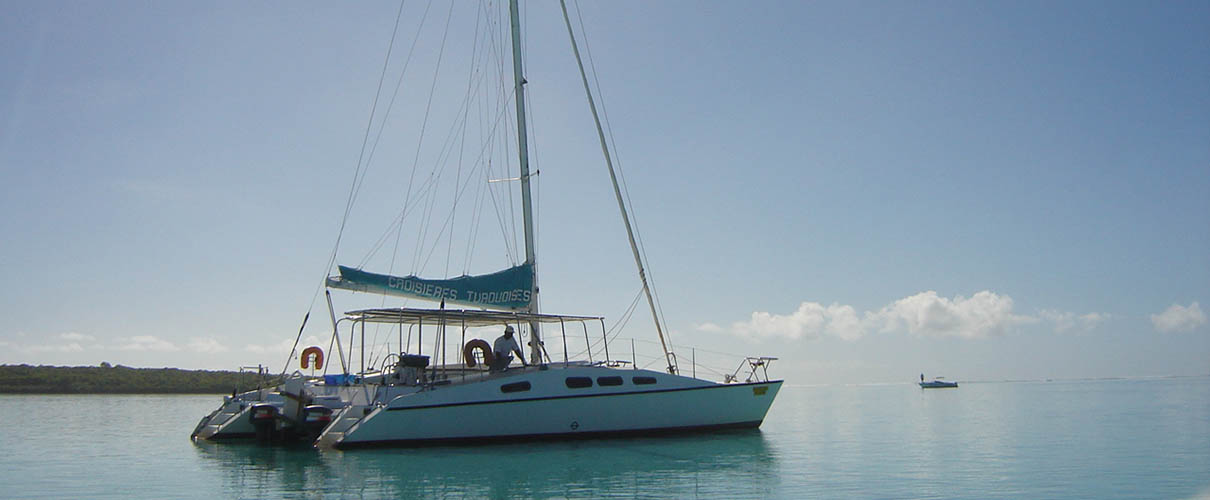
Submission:
[[[217,395],[272,385],[276,377],[259,380],[254,373],[131,368],[102,363],[97,367],[0,364],[0,393],[19,395]]]

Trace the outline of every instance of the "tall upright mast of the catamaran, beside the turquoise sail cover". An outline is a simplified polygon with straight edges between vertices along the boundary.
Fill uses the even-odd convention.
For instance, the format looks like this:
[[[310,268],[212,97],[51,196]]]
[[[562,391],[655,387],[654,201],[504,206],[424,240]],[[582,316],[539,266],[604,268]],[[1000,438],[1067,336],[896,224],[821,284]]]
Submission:
[[[525,263],[534,272],[534,288],[530,289],[530,305],[526,312],[537,312],[537,259],[534,252],[534,207],[530,200],[529,142],[525,130],[525,76],[522,71],[522,24],[517,0],[508,0],[508,15],[513,35],[513,85],[517,92],[517,151],[520,155],[522,168],[522,215],[525,219]],[[530,362],[542,362],[542,340],[537,322],[530,322]]]

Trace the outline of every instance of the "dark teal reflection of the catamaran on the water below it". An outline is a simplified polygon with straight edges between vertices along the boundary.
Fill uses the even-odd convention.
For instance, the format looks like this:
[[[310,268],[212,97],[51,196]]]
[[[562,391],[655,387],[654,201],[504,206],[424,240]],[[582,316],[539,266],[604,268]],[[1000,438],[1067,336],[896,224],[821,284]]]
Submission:
[[[200,443],[225,479],[217,496],[273,498],[750,498],[776,489],[777,458],[760,431],[707,436],[547,442],[490,448],[434,447],[340,453]],[[743,488],[743,489],[741,489]],[[766,492],[768,492],[766,490]],[[766,493],[767,494],[767,493]]]

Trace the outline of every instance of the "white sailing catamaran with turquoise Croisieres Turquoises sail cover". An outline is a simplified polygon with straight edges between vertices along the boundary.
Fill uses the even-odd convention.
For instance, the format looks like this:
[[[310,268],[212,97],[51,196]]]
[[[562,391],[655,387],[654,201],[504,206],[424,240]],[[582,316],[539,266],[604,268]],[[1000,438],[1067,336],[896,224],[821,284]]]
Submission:
[[[616,345],[611,351],[610,333],[600,316],[538,311],[520,22],[517,0],[511,0],[511,97],[515,103],[519,162],[519,177],[512,180],[519,180],[520,185],[525,260],[494,274],[445,280],[338,266],[338,274],[325,280],[325,297],[333,327],[330,344],[338,350],[341,373],[306,377],[294,372],[273,387],[232,393],[197,424],[195,438],[258,437],[346,449],[666,435],[761,425],[782,386],[782,380],[770,379],[767,373],[774,357],[744,357],[739,368],[718,381],[697,378],[696,362],[690,374],[681,373],[652,297],[566,5],[561,7],[639,281],[655,318],[663,350],[662,369],[640,368],[633,343],[629,360]],[[332,300],[334,289],[421,299],[438,306],[358,309],[338,318]],[[342,326],[348,328],[350,343],[361,335],[361,370],[351,369],[355,352],[352,345],[346,352],[341,344]],[[367,363],[368,326],[397,331],[398,350],[379,362]],[[500,332],[505,327],[513,327],[528,338],[529,362],[519,360],[520,363],[502,366],[485,340],[466,338],[468,332]],[[461,346],[454,352],[454,362],[449,362],[445,347],[453,341],[451,333],[457,335],[455,345]],[[433,340],[427,355],[421,352],[425,335]],[[587,358],[572,358],[569,337],[583,338]],[[553,356],[548,351],[552,338],[561,340],[561,356],[558,350],[552,349]],[[413,345],[415,352],[407,352]],[[292,360],[295,352],[296,344]],[[322,366],[323,350],[306,347],[299,358],[301,368]]]

